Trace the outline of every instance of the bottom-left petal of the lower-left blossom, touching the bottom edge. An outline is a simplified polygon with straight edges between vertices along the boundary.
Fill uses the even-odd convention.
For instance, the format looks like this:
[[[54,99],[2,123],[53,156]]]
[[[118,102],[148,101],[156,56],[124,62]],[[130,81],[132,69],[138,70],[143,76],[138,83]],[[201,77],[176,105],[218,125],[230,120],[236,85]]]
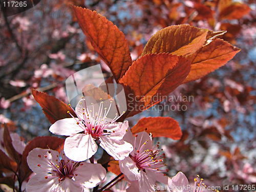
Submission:
[[[48,174],[36,174],[33,176],[26,185],[27,192],[52,192],[52,188],[54,188],[58,184],[58,178],[48,178],[45,176]]]

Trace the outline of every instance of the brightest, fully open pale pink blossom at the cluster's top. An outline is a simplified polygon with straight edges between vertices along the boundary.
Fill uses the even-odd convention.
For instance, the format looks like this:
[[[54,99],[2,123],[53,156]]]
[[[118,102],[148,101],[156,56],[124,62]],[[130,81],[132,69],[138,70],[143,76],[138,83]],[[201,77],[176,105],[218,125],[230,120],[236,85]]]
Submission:
[[[51,125],[49,131],[53,134],[70,136],[64,144],[64,152],[70,159],[84,161],[92,157],[98,148],[96,141],[100,141],[99,145],[116,160],[124,159],[133,151],[133,146],[123,141],[123,136],[129,129],[128,121],[115,122],[121,117],[117,117],[117,114],[112,120],[107,118],[111,105],[112,101],[109,109],[103,109],[101,101],[96,110],[92,103],[92,110],[89,110],[85,107],[83,98],[75,110],[71,108],[77,118],[61,119]]]

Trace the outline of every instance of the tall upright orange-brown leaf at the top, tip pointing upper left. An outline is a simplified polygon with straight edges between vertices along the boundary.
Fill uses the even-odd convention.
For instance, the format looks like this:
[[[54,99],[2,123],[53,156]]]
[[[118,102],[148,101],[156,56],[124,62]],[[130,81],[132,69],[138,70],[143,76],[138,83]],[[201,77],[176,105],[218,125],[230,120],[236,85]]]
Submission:
[[[72,8],[83,33],[90,39],[95,51],[119,81],[132,65],[124,34],[112,22],[95,11],[75,6]]]

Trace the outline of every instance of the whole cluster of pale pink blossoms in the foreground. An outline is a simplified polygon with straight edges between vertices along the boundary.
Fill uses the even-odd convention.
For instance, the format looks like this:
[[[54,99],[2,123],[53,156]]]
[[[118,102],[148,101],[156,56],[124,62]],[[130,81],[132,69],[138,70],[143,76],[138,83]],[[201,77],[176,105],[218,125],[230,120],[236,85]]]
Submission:
[[[103,183],[106,170],[94,161],[98,147],[119,161],[122,173],[117,178],[123,175],[126,184],[121,188],[112,187],[114,191],[156,191],[157,182],[165,184],[167,191],[177,191],[175,187],[188,185],[181,172],[172,179],[167,176],[165,154],[159,148],[159,142],[153,144],[152,135],[146,129],[133,135],[128,121],[117,122],[124,112],[111,119],[109,113],[113,102],[109,102],[109,108],[104,108],[104,102],[100,99],[98,104],[87,106],[82,97],[75,109],[70,106],[76,117],[68,111],[70,118],[58,120],[50,126],[51,133],[68,137],[60,153],[50,148],[34,148],[29,153],[28,165],[35,175],[26,185],[28,192],[85,192],[87,188]],[[102,191],[105,186],[96,191]],[[202,181],[195,180],[195,186],[199,189],[194,191],[206,191],[201,190]]]

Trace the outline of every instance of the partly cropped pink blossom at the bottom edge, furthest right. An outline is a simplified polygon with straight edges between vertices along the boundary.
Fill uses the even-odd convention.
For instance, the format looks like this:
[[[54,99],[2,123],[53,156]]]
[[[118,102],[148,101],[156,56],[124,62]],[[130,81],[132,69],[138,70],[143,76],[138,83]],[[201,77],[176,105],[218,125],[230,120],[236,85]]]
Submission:
[[[189,185],[186,176],[179,172],[172,179],[168,178],[168,186],[170,192],[210,192],[212,190],[208,189],[203,183],[203,179],[199,179],[199,176],[194,179],[194,185]]]

